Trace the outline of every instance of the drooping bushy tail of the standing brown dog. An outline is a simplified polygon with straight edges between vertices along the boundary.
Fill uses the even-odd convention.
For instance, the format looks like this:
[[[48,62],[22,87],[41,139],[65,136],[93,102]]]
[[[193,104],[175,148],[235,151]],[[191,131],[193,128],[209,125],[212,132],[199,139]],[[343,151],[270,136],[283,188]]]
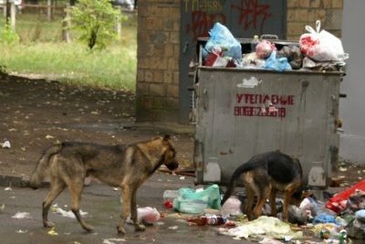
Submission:
[[[59,153],[61,150],[61,144],[56,144],[48,148],[45,153],[40,157],[38,163],[36,164],[36,169],[30,175],[29,186],[33,189],[38,188],[42,181],[46,177],[47,168],[49,164],[49,159],[54,155]]]

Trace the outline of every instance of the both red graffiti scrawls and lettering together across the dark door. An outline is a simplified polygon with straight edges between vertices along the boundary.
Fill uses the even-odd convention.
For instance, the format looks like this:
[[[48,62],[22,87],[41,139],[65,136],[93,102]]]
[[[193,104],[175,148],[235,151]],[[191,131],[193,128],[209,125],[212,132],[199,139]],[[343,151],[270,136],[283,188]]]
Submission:
[[[185,26],[186,34],[207,37],[215,22],[227,24],[235,16],[235,26],[243,30],[255,29],[262,32],[267,20],[273,16],[270,5],[260,0],[183,0],[183,12],[190,15]]]

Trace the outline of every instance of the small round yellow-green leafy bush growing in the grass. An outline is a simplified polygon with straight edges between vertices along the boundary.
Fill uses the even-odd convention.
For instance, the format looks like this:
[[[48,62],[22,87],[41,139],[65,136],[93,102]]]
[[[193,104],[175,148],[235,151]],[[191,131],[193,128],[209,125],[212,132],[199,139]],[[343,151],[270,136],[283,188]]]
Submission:
[[[114,9],[110,0],[79,0],[71,7],[71,28],[80,32],[78,39],[89,49],[106,48],[117,37],[115,24],[124,20],[119,10]]]

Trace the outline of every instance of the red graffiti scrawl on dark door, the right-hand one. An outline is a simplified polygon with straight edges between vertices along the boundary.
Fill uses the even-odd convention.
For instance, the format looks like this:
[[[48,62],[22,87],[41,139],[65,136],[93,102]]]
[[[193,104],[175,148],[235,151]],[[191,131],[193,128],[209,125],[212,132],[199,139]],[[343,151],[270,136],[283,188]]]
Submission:
[[[231,5],[231,8],[239,11],[238,25],[243,25],[245,29],[249,27],[257,29],[260,25],[262,32],[267,18],[272,16],[270,5],[260,5],[258,0],[242,0],[241,5]]]

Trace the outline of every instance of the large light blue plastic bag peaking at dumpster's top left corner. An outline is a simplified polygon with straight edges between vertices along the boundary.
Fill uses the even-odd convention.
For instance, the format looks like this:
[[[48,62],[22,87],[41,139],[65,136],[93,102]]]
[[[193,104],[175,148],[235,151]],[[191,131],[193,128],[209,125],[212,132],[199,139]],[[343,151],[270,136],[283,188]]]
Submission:
[[[235,39],[227,27],[217,22],[209,32],[209,36],[210,38],[203,48],[203,58],[209,52],[212,52],[214,47],[221,47],[224,49],[223,57],[230,57],[236,60],[242,59],[241,44]]]

